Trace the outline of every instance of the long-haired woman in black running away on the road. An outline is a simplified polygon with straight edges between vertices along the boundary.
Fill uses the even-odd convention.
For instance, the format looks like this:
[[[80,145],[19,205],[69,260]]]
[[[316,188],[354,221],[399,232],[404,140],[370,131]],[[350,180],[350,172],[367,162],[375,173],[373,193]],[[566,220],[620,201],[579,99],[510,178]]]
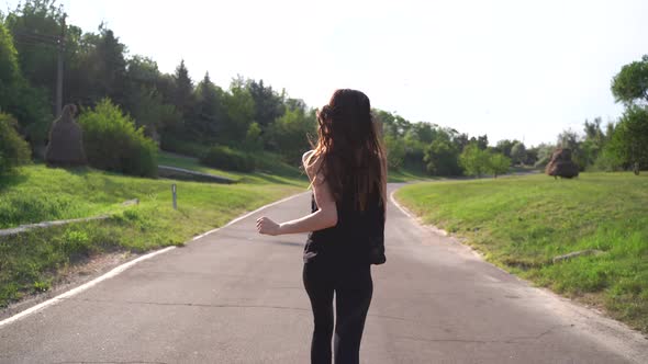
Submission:
[[[312,213],[282,224],[260,217],[257,229],[310,232],[303,282],[315,321],[311,362],[331,363],[335,293],[335,363],[358,363],[373,292],[370,264],[384,263],[384,151],[369,98],[360,91],[335,91],[317,122],[317,145],[303,156]]]

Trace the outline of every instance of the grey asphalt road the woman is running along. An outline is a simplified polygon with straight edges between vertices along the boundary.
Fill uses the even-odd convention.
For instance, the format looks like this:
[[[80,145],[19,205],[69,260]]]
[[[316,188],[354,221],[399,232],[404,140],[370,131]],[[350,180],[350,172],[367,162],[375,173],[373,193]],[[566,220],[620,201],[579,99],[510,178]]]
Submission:
[[[302,216],[309,198],[0,327],[0,363],[308,363],[305,236],[258,236],[255,220]],[[648,363],[640,334],[484,263],[394,205],[386,234],[364,363]]]

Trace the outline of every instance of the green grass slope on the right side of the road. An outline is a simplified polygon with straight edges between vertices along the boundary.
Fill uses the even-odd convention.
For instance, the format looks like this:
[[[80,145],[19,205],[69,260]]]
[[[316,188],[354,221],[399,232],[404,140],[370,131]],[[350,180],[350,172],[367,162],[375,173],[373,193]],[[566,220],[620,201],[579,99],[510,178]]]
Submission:
[[[396,198],[489,261],[648,332],[648,173],[420,183]],[[586,249],[604,253],[551,262]]]

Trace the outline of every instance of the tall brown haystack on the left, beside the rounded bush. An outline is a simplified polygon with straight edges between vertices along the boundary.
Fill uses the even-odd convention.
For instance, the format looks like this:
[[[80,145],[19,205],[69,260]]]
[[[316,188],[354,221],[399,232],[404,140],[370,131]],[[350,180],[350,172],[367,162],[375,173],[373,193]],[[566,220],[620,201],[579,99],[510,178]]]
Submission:
[[[45,150],[47,166],[75,167],[88,163],[83,150],[83,133],[74,118],[76,113],[77,107],[68,104],[63,109],[60,117],[54,121]]]

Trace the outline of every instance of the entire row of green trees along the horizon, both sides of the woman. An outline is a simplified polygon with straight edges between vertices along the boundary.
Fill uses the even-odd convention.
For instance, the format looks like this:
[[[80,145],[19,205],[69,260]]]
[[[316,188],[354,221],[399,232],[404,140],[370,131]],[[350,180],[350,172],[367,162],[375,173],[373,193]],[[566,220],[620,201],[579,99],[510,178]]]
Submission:
[[[305,136],[315,135],[314,110],[262,80],[236,77],[223,89],[205,73],[194,83],[185,61],[174,73],[164,73],[155,60],[130,55],[104,24],[87,33],[65,23],[56,0],[26,0],[8,14],[0,13],[0,111],[18,121],[19,133],[36,152],[47,143],[56,113],[58,45],[51,41],[62,30],[64,103],[91,110],[110,99],[163,149],[202,157],[217,145],[273,151],[298,163],[309,148]],[[389,166],[434,175],[496,175],[506,163],[541,167],[555,148],[568,147],[581,169],[614,170],[633,163],[646,168],[647,65],[645,57],[615,77],[613,93],[627,105],[617,124],[610,123],[603,130],[601,118],[585,121],[583,135],[563,132],[556,145],[527,148],[506,139],[491,147],[487,135],[470,137],[376,110],[383,124]]]

